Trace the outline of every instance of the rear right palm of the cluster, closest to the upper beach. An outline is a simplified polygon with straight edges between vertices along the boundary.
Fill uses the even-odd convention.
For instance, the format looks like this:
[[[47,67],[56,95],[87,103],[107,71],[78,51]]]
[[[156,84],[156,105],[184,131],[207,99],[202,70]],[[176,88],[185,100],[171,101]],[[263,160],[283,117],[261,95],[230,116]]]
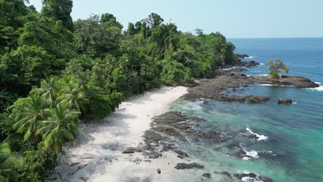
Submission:
[[[78,111],[85,110],[88,103],[84,86],[75,79],[63,79],[63,88],[59,91],[59,101],[66,103],[70,108]]]

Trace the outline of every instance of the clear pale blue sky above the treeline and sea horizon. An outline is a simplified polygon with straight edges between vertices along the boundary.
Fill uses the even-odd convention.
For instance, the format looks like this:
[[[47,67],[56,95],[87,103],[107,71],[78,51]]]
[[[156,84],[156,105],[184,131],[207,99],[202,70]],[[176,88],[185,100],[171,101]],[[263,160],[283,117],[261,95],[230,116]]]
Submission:
[[[323,37],[323,0],[74,0],[72,18],[109,12],[126,27],[150,12],[179,30],[228,38]],[[41,0],[30,0],[41,10]]]

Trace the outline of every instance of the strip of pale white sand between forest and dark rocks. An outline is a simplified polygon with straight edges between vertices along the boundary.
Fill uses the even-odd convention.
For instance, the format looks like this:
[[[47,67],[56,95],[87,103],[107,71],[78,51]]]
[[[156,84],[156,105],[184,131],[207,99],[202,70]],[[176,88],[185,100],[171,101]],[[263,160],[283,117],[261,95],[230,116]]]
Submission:
[[[179,160],[177,154],[167,152],[159,159],[145,161],[141,153],[121,151],[143,143],[141,136],[150,128],[151,119],[186,93],[184,87],[151,90],[124,101],[106,119],[84,125],[77,141],[59,156],[60,165],[51,181],[177,181],[181,172],[170,168],[170,162]]]

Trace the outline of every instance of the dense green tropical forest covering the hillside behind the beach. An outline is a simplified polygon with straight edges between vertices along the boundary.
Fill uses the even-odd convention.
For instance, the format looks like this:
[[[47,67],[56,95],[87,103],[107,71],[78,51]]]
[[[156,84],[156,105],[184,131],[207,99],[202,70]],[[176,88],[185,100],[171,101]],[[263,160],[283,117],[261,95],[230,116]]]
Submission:
[[[181,32],[155,13],[124,29],[112,14],[73,22],[71,11],[71,0],[44,0],[40,13],[0,0],[1,181],[44,181],[81,122],[237,61],[222,34]]]

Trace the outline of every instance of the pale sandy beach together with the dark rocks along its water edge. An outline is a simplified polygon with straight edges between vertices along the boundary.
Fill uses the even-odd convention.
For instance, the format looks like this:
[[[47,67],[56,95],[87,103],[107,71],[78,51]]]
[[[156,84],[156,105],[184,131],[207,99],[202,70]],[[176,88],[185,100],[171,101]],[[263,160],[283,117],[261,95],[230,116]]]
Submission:
[[[316,86],[303,77],[286,77],[286,79],[288,80],[280,82],[269,77],[246,77],[244,74],[224,72],[213,79],[197,80],[192,88],[163,87],[127,99],[106,119],[84,125],[77,141],[66,146],[66,155],[59,156],[61,164],[48,179],[50,181],[106,181],[106,179],[109,181],[180,181],[181,176],[190,172],[182,169],[190,169],[189,165],[193,163],[197,167],[192,168],[199,168],[199,166],[204,168],[205,164],[195,163],[193,158],[186,156],[186,152],[179,150],[180,148],[173,143],[173,139],[179,141],[196,139],[197,142],[202,139],[211,144],[219,144],[230,140],[231,136],[223,135],[216,130],[197,129],[198,123],[203,119],[167,112],[172,103],[179,98],[202,99],[206,105],[208,101],[204,99],[264,103],[268,101],[266,97],[255,95],[239,97],[234,94],[226,95],[222,91],[228,88],[239,90],[241,86],[273,81],[279,85],[303,88],[298,85],[301,80],[301,83],[306,84],[304,88],[308,85]],[[294,79],[297,81],[293,81]],[[190,121],[193,121],[193,124]],[[258,139],[257,134],[253,132],[247,132],[246,136]],[[230,155],[239,159],[255,158],[245,150]],[[208,172],[208,169],[202,172]],[[215,173],[231,179],[253,177],[262,181],[272,181],[266,176],[254,173],[229,174],[226,171]],[[210,173],[205,174],[207,176]]]

